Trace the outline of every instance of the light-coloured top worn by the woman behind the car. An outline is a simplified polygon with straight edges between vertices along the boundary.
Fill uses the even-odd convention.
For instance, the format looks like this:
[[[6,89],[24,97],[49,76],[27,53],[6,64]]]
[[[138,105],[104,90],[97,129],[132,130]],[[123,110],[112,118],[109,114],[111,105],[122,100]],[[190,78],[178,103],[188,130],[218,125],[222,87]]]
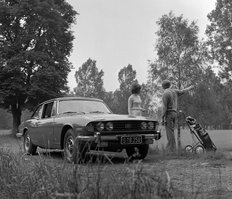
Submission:
[[[141,116],[143,110],[141,103],[140,96],[132,94],[128,99],[128,114],[130,116]]]

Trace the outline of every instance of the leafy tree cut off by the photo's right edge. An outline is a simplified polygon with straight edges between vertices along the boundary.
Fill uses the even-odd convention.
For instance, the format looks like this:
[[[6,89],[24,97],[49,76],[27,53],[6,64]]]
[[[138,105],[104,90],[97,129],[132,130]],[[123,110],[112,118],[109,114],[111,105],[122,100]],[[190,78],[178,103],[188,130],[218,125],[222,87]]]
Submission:
[[[220,100],[227,115],[224,116],[224,121],[230,123],[232,119],[232,2],[217,0],[215,9],[208,14],[208,18],[210,25],[206,29],[207,44],[212,60],[219,65],[219,77],[224,86]]]

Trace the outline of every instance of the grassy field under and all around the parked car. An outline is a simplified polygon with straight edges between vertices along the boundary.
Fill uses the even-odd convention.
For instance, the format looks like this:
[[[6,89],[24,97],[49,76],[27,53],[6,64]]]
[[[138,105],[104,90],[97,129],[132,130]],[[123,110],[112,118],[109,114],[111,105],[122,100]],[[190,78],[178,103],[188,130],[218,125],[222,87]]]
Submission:
[[[1,131],[0,198],[232,197],[230,131],[209,131],[218,150],[203,155],[165,155],[162,134],[142,162],[128,162],[120,153],[108,154],[110,161],[73,165],[57,151],[25,155],[21,140]],[[187,130],[181,135],[182,145],[192,143]]]

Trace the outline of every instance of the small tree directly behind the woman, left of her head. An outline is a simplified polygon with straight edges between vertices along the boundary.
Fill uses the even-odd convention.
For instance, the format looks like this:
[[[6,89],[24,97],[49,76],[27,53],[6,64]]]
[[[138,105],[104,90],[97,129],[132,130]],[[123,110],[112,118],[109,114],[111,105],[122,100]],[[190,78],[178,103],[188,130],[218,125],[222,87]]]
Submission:
[[[128,114],[128,98],[131,95],[131,86],[136,79],[136,71],[133,70],[132,65],[122,68],[118,73],[118,81],[120,88],[114,92],[115,106],[117,113]]]

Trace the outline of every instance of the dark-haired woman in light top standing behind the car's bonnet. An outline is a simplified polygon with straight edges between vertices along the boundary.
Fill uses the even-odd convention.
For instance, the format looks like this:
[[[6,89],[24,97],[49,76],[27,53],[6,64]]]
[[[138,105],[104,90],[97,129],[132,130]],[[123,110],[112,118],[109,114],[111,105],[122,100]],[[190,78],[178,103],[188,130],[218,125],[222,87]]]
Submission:
[[[128,99],[128,114],[129,116],[142,116],[144,109],[141,107],[140,97],[141,86],[137,83],[132,84],[131,96]]]

